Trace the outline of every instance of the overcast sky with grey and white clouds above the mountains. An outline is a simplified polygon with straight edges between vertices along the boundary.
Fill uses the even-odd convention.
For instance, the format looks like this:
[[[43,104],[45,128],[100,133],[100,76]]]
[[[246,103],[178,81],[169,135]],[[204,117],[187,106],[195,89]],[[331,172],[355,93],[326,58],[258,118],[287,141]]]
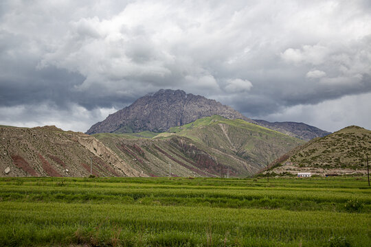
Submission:
[[[159,89],[370,130],[371,1],[0,1],[0,124],[85,132]]]

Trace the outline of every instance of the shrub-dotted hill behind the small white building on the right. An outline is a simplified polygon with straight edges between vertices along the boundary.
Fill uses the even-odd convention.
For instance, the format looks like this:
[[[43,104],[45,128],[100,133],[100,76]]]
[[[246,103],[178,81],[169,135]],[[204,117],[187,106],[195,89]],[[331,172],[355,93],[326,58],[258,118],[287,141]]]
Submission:
[[[371,158],[371,131],[349,126],[300,145],[271,167],[276,173],[366,174],[366,154]]]

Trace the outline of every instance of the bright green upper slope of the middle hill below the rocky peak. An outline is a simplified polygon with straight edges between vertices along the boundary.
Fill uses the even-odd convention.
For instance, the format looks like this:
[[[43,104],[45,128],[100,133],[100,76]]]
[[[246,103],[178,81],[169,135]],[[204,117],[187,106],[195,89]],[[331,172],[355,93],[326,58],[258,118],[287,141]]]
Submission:
[[[234,154],[250,163],[260,166],[273,161],[295,146],[304,143],[280,132],[269,130],[240,119],[230,120],[220,116],[205,117],[186,126],[171,128],[156,138],[166,137],[173,132],[188,137],[208,148]]]

